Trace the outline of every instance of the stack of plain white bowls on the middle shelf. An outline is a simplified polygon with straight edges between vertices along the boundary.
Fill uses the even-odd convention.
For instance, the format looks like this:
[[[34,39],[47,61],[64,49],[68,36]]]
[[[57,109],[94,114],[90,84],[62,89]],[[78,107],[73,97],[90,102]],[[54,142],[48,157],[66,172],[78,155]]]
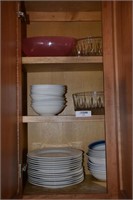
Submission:
[[[31,107],[39,115],[57,115],[66,107],[65,85],[32,85]]]

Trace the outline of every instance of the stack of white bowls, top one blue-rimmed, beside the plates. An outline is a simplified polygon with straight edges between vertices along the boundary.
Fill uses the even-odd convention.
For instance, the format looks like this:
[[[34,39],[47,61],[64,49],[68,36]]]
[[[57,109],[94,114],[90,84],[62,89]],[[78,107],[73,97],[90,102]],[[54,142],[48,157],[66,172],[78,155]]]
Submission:
[[[88,146],[88,169],[101,181],[106,181],[105,141],[100,140]]]

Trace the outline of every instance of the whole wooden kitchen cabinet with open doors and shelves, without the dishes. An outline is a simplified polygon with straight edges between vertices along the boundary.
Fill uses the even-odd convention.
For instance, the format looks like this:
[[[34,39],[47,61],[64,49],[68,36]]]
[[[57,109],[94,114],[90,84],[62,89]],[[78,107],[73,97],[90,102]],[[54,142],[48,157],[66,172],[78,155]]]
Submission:
[[[7,1],[1,2],[1,7],[2,198],[131,198],[131,2]],[[23,9],[29,24],[20,16]],[[24,57],[22,38],[26,34],[30,37],[44,33],[79,38],[98,34],[103,38],[103,56]],[[126,54],[124,48],[128,49]],[[38,116],[31,109],[30,85],[41,83],[67,85],[68,105],[60,115]],[[126,91],[125,108],[121,84]],[[74,116],[72,93],[84,90],[104,90],[104,116]],[[101,138],[106,141],[106,183],[89,174],[85,155],[85,180],[78,185],[53,190],[27,182],[26,155],[34,145],[63,146],[77,142],[86,153],[87,145]]]

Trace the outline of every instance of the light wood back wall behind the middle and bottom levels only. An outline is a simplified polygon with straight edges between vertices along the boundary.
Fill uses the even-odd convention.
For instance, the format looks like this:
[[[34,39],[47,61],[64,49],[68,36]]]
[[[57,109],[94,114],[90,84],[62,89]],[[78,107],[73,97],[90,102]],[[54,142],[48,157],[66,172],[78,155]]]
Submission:
[[[31,108],[30,86],[32,84],[64,84],[67,85],[67,107],[61,116],[74,115],[72,94],[82,91],[103,90],[102,71],[66,71],[28,73],[28,115],[36,115]],[[32,123],[28,124],[28,149],[36,145],[77,145],[87,152],[88,144],[104,138],[104,123],[73,122],[68,123]],[[79,146],[78,146],[79,145]],[[87,166],[87,165],[86,165]]]

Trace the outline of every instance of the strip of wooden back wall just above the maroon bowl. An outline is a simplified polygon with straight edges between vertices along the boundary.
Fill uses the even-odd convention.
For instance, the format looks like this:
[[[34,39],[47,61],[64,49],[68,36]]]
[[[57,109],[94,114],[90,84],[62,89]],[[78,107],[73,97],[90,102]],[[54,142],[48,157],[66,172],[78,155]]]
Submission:
[[[101,34],[101,22],[31,22],[27,26],[29,37],[48,35],[82,38]]]

